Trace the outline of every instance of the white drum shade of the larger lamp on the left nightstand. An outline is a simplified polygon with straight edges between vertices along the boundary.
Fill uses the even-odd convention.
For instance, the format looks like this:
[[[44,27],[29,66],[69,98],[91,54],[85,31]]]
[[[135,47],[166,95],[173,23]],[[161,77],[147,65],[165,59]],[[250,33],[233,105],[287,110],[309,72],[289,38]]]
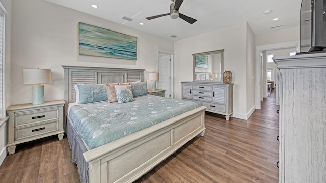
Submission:
[[[52,75],[50,69],[23,69],[24,84],[50,83]]]

